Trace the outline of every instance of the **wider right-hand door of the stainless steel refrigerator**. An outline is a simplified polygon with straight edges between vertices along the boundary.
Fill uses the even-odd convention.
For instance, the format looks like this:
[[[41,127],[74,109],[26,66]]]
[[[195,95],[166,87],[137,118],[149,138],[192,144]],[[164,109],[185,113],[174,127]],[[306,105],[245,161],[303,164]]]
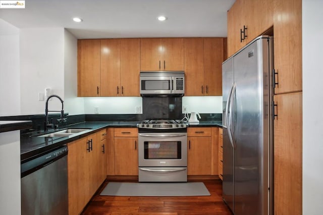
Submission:
[[[267,39],[254,41],[234,57],[235,215],[267,214],[267,60]]]

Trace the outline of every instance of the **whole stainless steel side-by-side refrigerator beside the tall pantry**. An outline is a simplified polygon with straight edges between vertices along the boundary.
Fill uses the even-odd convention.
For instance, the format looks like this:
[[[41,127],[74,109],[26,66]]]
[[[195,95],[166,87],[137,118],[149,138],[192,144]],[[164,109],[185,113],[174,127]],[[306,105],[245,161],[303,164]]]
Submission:
[[[273,213],[273,59],[263,35],[222,65],[223,199],[235,215]]]

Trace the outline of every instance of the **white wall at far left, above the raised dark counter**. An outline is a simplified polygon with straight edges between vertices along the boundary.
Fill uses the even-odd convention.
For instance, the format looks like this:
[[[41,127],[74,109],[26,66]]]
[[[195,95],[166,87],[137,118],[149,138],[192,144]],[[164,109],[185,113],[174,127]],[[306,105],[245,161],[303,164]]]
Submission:
[[[0,19],[0,116],[20,114],[19,29]]]

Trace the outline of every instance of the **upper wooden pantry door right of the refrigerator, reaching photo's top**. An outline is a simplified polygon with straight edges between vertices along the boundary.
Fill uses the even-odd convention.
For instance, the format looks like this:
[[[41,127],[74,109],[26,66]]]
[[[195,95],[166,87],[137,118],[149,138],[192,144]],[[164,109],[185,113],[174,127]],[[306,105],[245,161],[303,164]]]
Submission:
[[[274,0],[275,94],[302,90],[302,1]]]

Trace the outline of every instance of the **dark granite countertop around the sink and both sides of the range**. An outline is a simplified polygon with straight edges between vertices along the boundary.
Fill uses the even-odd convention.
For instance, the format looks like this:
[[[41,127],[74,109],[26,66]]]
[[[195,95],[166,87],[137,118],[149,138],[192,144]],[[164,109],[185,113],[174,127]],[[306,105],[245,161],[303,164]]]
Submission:
[[[59,130],[66,128],[87,128],[87,131],[83,131],[77,134],[73,134],[67,137],[38,137],[43,133],[31,132],[21,135],[20,139],[20,157],[21,160],[29,159],[39,153],[51,150],[61,145],[67,144],[74,140],[85,137],[91,133],[95,133],[103,128],[136,128],[139,122],[83,122],[73,125],[69,125]],[[197,125],[189,125],[189,127],[221,127],[222,121],[201,121]],[[58,131],[58,130],[57,130]],[[47,133],[54,132],[53,130]],[[38,135],[38,136],[37,136]]]

